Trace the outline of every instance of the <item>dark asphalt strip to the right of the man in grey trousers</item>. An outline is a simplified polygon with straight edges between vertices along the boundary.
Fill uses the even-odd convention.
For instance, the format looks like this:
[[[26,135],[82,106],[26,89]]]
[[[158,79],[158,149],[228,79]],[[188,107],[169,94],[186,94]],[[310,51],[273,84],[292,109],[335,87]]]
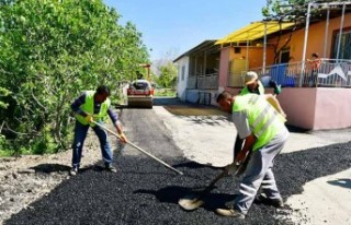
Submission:
[[[273,169],[279,187],[283,187],[281,192],[286,197],[296,194],[308,181],[349,169],[350,152],[348,142],[279,155]]]

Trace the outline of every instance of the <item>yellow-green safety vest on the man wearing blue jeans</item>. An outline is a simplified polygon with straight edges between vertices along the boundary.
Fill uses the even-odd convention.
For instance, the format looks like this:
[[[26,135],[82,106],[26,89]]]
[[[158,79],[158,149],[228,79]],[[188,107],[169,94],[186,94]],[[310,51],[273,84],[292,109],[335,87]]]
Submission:
[[[99,120],[106,120],[107,119],[107,109],[111,105],[110,98],[106,98],[103,103],[101,103],[100,111],[99,114],[94,114],[94,94],[95,91],[87,91],[84,92],[86,94],[86,103],[82,104],[79,108],[80,110],[84,111],[86,114],[92,116],[94,121]],[[82,123],[82,125],[88,125],[87,119],[79,115],[76,114],[77,120]],[[94,127],[94,125],[90,125],[91,127]]]

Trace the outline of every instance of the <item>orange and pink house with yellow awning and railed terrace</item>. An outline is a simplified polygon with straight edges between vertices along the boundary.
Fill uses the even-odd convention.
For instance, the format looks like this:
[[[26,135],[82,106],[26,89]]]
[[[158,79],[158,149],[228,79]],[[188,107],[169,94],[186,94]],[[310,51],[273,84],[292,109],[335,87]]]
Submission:
[[[308,130],[350,128],[351,4],[328,7],[325,13],[329,11],[329,16],[307,20],[292,35],[292,24],[274,27],[272,22],[259,22],[219,39],[218,92],[238,93],[244,86],[242,75],[252,70],[283,86],[278,98],[287,115],[287,125]],[[275,55],[274,47],[280,48],[286,43],[282,40],[288,38]],[[319,54],[321,64],[312,82],[313,68],[307,59],[314,52]],[[272,90],[268,87],[267,92]]]

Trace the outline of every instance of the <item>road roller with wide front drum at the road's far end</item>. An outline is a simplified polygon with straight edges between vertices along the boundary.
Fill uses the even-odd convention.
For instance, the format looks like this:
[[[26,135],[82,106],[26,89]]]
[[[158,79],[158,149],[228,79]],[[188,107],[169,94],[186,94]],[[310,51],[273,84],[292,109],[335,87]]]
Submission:
[[[147,80],[133,81],[127,88],[128,107],[152,108],[154,86]]]

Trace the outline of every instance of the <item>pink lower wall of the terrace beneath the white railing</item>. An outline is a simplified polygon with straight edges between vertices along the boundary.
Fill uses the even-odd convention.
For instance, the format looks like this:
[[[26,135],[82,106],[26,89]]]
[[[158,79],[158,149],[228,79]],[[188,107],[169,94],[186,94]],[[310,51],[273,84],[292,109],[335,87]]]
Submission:
[[[226,91],[238,94],[240,88]],[[272,88],[265,88],[272,93]],[[351,128],[351,88],[283,87],[278,99],[287,125],[307,130]]]

